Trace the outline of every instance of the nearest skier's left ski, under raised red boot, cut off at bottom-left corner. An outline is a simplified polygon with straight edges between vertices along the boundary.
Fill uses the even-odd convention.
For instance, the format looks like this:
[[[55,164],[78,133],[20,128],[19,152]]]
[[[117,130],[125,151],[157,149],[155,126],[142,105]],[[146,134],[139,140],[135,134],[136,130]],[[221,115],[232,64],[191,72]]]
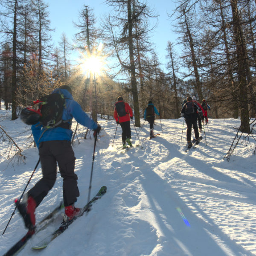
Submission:
[[[3,256],[14,256],[16,255],[22,248],[25,246],[26,242],[36,233],[38,233],[40,230],[46,228],[54,219],[55,216],[58,214],[58,212],[61,211],[61,209],[64,208],[63,201],[52,211],[50,212],[42,221],[40,221],[37,226],[29,230],[25,236],[23,236],[15,245],[12,246],[12,248],[9,249],[7,253],[5,253]]]

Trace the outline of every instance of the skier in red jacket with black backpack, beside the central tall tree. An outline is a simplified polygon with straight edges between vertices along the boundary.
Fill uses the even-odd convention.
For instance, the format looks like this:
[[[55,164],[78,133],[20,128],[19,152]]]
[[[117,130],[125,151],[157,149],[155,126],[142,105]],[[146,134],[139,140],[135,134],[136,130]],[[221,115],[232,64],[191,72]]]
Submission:
[[[121,96],[117,98],[117,102],[115,104],[114,119],[122,128],[123,148],[126,148],[126,142],[130,147],[132,147],[130,119],[133,119],[133,113],[130,105],[127,102],[124,102]]]

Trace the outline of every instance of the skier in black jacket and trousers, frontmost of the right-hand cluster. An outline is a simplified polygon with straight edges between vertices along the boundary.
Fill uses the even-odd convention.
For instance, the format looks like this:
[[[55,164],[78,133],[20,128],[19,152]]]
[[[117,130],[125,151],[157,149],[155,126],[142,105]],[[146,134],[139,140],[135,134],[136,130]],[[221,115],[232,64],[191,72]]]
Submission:
[[[192,101],[192,98],[189,96],[187,97],[187,102],[183,106],[183,108],[180,111],[180,115],[185,117],[186,125],[187,125],[187,131],[186,131],[186,139],[188,142],[188,147],[192,147],[191,142],[191,131],[192,131],[192,125],[195,132],[195,140],[196,143],[199,143],[199,132],[198,132],[198,125],[197,125],[197,112],[201,113],[201,108],[198,107],[197,104],[195,104]]]

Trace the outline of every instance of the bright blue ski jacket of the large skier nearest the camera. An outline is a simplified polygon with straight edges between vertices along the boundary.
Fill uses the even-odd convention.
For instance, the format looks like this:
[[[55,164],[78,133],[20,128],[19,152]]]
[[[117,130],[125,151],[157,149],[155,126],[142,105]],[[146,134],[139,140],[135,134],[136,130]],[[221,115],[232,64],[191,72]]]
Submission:
[[[62,93],[66,99],[66,107],[63,110],[62,120],[70,120],[74,117],[76,122],[81,125],[88,127],[89,129],[96,129],[96,122],[91,119],[87,113],[85,113],[81,106],[73,99],[71,94],[66,89],[55,89],[52,93]],[[71,123],[70,123],[71,124]],[[32,134],[35,140],[37,147],[43,141],[49,140],[68,140],[71,141],[73,131],[70,129],[65,129],[62,127],[55,128],[43,128],[38,122],[31,127]]]

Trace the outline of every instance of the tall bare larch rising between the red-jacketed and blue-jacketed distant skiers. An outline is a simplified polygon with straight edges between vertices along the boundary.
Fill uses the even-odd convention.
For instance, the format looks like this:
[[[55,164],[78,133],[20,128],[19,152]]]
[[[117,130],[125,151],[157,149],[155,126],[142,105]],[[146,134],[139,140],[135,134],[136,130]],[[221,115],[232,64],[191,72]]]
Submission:
[[[155,15],[148,12],[148,6],[139,0],[106,0],[113,11],[105,18],[104,29],[109,49],[113,49],[113,57],[119,61],[119,71],[126,73],[131,81],[132,105],[134,108],[135,126],[140,127],[140,106],[137,77],[143,90],[142,56],[150,31],[147,19]],[[117,70],[117,69],[116,69]]]

